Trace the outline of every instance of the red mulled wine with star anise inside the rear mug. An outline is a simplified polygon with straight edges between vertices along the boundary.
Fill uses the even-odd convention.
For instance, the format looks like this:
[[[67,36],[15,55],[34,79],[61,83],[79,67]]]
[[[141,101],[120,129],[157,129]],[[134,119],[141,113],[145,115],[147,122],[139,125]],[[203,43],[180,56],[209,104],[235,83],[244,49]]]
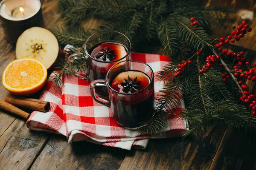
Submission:
[[[107,41],[94,45],[88,53],[94,59],[90,60],[88,66],[89,82],[92,82],[96,79],[105,79],[108,70],[117,63],[115,61],[120,62],[126,59],[128,48],[121,42]],[[116,75],[122,72],[124,67],[125,65],[120,65],[118,69],[115,69]],[[97,86],[95,91],[97,96],[108,99],[108,88],[105,86]]]

